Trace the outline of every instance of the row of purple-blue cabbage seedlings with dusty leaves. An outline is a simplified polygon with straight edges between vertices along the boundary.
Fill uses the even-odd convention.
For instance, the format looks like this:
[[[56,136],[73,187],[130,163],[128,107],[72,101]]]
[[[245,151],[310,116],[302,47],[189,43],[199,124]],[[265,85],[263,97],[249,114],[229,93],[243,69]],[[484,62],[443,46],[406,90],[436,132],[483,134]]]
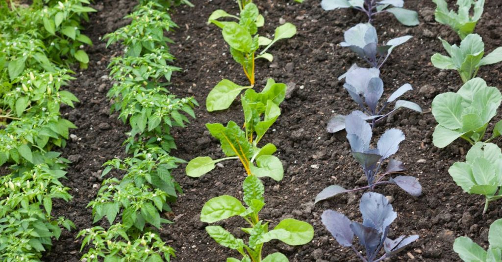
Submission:
[[[331,185],[323,189],[315,198],[314,203],[326,200],[339,194],[358,190],[373,191],[378,185],[396,184],[412,196],[420,196],[422,186],[413,176],[398,175],[404,173],[402,161],[390,158],[399,150],[399,144],[405,140],[404,133],[396,128],[387,129],[371,146],[371,137],[375,126],[389,115],[401,108],[408,108],[419,113],[422,108],[416,103],[399,100],[406,92],[413,90],[410,84],[404,84],[394,91],[385,101],[380,101],[384,94],[384,82],[380,77],[380,69],[390,57],[392,51],[410,40],[411,36],[402,36],[379,45],[376,29],[371,25],[373,16],[388,12],[406,26],[416,26],[418,14],[415,11],[403,9],[403,1],[347,1],[323,0],[321,6],[325,10],[353,8],[362,11],[368,17],[368,23],[358,24],[344,33],[342,47],[348,47],[362,58],[370,68],[361,68],[354,64],[338,79],[345,79],[344,89],[350,98],[358,105],[348,115],[335,115],[328,123],[327,131],[335,133],[345,130],[347,140],[354,159],[361,165],[367,179],[367,186],[345,189],[340,185]],[[362,261],[382,261],[403,250],[408,244],[419,238],[418,235],[401,235],[396,239],[388,237],[391,223],[397,218],[397,213],[389,200],[382,194],[366,192],[362,195],[359,209],[362,223],[350,221],[344,214],[326,210],[321,220],[336,241],[345,247],[350,247]],[[354,235],[365,248],[365,252],[357,250],[353,243]],[[383,254],[382,249],[384,249]]]

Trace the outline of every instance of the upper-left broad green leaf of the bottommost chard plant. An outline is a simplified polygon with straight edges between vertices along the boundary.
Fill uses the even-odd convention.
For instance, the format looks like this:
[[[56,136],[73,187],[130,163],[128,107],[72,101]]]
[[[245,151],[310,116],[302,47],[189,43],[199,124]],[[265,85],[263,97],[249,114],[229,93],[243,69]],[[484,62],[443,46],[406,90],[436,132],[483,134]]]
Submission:
[[[246,208],[235,197],[222,195],[209,199],[200,213],[202,222],[214,223],[244,212]]]

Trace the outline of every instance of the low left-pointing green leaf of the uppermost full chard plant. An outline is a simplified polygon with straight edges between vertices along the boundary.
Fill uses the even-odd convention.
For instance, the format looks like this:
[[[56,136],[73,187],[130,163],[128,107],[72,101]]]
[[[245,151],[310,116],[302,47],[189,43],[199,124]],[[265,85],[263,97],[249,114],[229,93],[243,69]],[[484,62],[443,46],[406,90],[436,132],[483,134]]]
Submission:
[[[250,87],[243,87],[230,80],[221,80],[207,95],[206,109],[209,112],[224,110],[230,107],[240,91]]]

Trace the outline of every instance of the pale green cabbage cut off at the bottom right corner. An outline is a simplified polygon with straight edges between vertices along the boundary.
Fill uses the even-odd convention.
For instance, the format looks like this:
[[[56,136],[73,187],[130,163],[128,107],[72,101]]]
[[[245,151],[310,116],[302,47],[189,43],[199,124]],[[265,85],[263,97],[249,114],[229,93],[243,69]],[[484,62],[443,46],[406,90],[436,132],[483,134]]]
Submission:
[[[490,246],[485,251],[466,236],[460,236],[453,243],[453,250],[465,262],[497,262],[502,261],[502,219],[497,219],[490,225],[488,231]]]

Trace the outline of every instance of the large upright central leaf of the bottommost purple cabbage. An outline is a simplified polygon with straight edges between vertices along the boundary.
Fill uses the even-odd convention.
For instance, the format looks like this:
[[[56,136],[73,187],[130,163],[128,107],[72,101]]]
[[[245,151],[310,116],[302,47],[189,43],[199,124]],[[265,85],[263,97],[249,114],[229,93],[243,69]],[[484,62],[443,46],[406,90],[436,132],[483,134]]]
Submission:
[[[385,232],[386,228],[398,216],[389,200],[382,194],[366,192],[361,197],[359,209],[362,214],[362,224]]]

